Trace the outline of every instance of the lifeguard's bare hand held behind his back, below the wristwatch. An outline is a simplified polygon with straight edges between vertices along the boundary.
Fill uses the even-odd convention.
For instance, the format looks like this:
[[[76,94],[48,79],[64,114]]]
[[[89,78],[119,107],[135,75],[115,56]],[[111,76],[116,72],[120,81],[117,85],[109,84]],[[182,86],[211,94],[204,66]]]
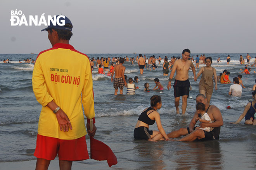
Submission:
[[[63,112],[62,109],[56,112],[56,118],[59,123],[60,129],[64,132],[68,132],[68,129],[72,130],[71,122],[69,121],[69,118],[67,117],[66,113]]]

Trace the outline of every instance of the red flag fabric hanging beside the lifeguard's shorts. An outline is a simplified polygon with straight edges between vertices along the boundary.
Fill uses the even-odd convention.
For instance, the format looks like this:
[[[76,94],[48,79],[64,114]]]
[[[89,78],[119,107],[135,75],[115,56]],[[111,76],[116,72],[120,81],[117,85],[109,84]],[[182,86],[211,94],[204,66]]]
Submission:
[[[118,163],[116,155],[105,143],[90,136],[90,145],[91,159],[98,161],[107,160],[109,167]]]

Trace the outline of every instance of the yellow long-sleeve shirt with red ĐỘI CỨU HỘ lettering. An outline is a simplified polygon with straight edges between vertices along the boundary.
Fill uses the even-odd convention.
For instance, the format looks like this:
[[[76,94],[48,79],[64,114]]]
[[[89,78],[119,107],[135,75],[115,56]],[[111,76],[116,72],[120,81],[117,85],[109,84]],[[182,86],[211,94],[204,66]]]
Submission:
[[[38,134],[59,139],[77,139],[86,134],[85,116],[95,116],[92,72],[89,58],[69,44],[55,44],[38,54],[32,76],[36,100],[42,104]],[[61,131],[56,115],[46,105],[54,100],[67,114],[72,130]]]

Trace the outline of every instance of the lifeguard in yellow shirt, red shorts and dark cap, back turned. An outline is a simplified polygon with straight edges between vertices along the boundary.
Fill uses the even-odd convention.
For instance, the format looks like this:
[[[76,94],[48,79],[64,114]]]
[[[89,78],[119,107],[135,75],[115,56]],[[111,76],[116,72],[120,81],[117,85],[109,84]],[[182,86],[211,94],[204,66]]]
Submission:
[[[47,170],[50,160],[54,160],[57,154],[59,167],[65,170],[71,170],[73,161],[88,159],[86,128],[92,137],[97,129],[94,125],[90,60],[69,44],[73,26],[66,16],[64,21],[62,19],[60,17],[56,25],[50,23],[42,30],[48,32],[53,48],[38,54],[33,70],[33,91],[36,100],[43,106],[34,153],[37,157],[36,170]],[[63,68],[68,72],[52,68]],[[86,128],[81,103],[87,118]],[[90,119],[93,119],[92,131]]]

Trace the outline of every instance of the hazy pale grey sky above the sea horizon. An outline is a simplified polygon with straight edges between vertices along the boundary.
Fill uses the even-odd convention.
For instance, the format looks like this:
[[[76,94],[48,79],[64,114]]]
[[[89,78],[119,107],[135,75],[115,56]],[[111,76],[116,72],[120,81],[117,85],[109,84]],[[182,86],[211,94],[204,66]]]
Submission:
[[[46,26],[11,26],[11,10],[66,15],[83,53],[256,53],[256,0],[1,0],[0,53],[51,48]]]

